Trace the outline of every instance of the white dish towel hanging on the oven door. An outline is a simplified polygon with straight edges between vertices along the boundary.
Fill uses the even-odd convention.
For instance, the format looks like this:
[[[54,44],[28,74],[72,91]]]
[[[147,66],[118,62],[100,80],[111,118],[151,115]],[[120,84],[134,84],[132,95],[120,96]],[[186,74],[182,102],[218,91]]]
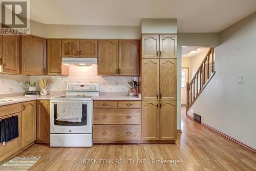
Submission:
[[[67,122],[82,122],[81,101],[58,101],[57,120]]]

